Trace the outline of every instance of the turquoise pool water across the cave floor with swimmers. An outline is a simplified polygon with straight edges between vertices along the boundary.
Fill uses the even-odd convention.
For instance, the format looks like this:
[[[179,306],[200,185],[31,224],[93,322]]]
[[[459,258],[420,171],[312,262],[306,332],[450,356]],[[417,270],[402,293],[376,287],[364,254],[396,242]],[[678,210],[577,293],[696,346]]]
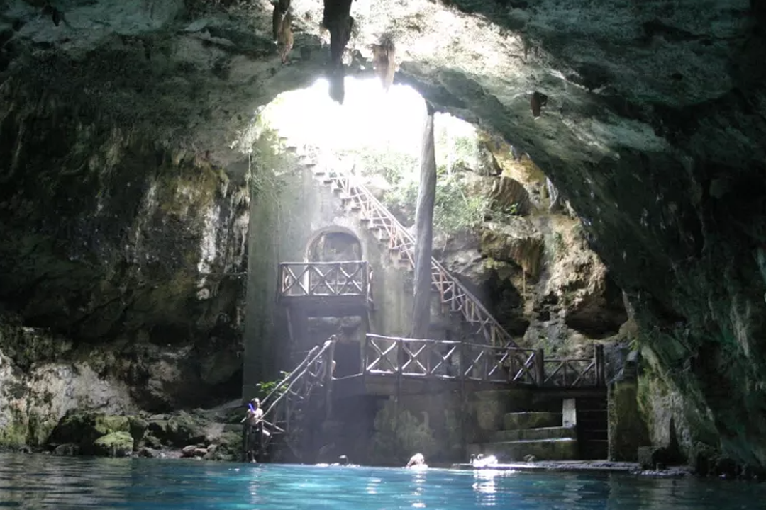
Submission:
[[[0,454],[0,508],[277,510],[737,510],[766,508],[766,486],[648,479],[367,467],[71,459]]]

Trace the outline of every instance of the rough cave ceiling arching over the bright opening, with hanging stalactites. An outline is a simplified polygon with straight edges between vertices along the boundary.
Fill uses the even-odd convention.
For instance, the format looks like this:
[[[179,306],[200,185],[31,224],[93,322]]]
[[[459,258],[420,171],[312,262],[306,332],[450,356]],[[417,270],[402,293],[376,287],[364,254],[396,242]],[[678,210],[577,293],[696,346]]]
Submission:
[[[44,3],[2,2],[11,109],[30,108],[24,97],[64,106],[224,166],[257,107],[329,60],[318,0],[293,0],[285,65],[262,0],[59,0],[57,20]],[[628,290],[663,294],[631,274],[699,257],[712,209],[737,224],[763,213],[757,2],[355,0],[351,14],[347,74],[370,73],[372,44],[390,34],[397,82],[530,154]]]

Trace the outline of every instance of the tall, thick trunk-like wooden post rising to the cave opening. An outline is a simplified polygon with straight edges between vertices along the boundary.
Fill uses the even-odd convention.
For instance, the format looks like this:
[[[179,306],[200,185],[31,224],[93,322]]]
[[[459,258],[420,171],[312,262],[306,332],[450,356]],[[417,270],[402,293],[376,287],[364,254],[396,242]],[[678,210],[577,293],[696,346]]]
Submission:
[[[434,152],[434,107],[426,102],[427,117],[421,147],[421,181],[415,210],[415,281],[411,337],[428,338],[431,301],[431,251],[434,242],[436,202],[436,154]]]

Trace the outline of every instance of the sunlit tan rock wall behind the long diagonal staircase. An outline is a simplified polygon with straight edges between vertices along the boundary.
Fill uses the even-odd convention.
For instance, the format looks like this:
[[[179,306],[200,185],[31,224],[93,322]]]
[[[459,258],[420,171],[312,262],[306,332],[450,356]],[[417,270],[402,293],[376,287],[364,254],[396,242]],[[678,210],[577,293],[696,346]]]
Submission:
[[[514,158],[507,143],[486,134],[481,147],[491,159],[464,180],[466,193],[488,200],[487,221],[473,232],[437,239],[437,258],[525,346],[591,357],[595,341],[624,343],[622,291],[588,246],[571,206],[552,197],[529,157]]]

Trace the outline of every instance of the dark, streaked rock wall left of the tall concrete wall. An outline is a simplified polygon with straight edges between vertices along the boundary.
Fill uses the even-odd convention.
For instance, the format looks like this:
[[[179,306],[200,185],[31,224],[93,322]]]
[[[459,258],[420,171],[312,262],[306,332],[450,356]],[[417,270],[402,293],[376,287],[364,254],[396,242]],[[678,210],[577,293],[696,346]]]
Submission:
[[[6,365],[27,371],[8,384],[61,355],[146,408],[236,395],[244,175],[55,91],[6,82],[0,95],[0,310],[41,332],[5,333]]]

